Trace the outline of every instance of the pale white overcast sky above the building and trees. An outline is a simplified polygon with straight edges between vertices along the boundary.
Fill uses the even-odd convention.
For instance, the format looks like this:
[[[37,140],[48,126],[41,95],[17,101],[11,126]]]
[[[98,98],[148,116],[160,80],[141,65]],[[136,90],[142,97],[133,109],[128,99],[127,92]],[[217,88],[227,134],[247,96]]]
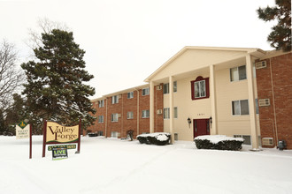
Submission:
[[[64,22],[86,51],[96,95],[145,84],[143,80],[184,46],[262,48],[273,23],[257,8],[274,0],[0,0],[0,39],[27,62],[28,28],[37,20]]]

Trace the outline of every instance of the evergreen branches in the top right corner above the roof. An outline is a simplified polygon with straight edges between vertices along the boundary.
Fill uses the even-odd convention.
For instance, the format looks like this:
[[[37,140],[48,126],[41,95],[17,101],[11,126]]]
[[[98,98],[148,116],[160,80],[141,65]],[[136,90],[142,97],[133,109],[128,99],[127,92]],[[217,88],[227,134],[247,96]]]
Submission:
[[[272,32],[267,37],[271,47],[291,50],[291,0],[276,0],[276,6],[257,10],[258,18],[264,21],[278,20],[272,27]]]

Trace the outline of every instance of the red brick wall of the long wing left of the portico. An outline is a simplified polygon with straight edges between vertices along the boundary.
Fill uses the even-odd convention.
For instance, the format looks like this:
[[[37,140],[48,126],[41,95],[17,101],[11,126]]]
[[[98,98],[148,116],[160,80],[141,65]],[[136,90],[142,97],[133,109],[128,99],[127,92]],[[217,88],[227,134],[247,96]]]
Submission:
[[[149,86],[145,86],[148,88]],[[150,132],[150,117],[142,118],[142,111],[150,111],[150,95],[142,95],[142,89],[133,89],[127,92],[115,93],[104,98],[104,107],[99,108],[98,103],[101,99],[93,101],[93,106],[96,108],[96,122],[88,127],[86,132],[103,131],[105,137],[110,138],[111,132],[115,131],[118,138],[127,138],[127,131],[133,130],[134,137],[142,133]],[[128,98],[127,93],[133,92],[133,98]],[[163,109],[163,90],[155,89],[155,111],[154,111],[154,131],[163,131],[163,115],[157,114],[157,109]],[[118,96],[119,102],[112,104],[112,96]],[[138,112],[139,109],[139,112]],[[133,118],[127,118],[127,113],[133,112]],[[106,114],[107,113],[107,114]],[[111,121],[111,114],[119,114],[117,122]],[[104,116],[104,123],[98,123],[98,116]]]

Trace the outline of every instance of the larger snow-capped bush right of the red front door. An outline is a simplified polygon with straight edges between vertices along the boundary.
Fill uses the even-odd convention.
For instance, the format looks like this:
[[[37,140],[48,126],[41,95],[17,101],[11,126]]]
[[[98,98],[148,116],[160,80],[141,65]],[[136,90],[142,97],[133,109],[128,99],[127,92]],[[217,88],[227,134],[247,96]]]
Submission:
[[[195,139],[197,149],[234,150],[242,149],[243,138],[230,138],[224,135],[198,136]]]

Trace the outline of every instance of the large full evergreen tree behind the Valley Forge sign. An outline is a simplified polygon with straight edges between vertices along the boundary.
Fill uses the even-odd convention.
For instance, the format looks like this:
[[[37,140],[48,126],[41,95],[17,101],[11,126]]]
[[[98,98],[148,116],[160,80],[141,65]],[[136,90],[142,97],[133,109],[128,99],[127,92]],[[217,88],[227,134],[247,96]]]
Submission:
[[[96,118],[88,97],[95,89],[83,84],[93,75],[84,70],[85,51],[73,41],[73,33],[53,29],[42,34],[42,47],[35,48],[37,61],[22,63],[27,75],[23,94],[27,96],[29,120],[42,129],[44,119],[88,126]]]

